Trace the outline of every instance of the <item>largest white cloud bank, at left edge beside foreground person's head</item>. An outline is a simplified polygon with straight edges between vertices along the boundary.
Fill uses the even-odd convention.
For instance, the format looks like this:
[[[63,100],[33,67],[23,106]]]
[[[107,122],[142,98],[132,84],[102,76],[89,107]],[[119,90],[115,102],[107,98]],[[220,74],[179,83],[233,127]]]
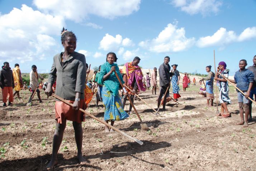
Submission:
[[[5,33],[0,39],[0,60],[21,63],[52,56],[60,45],[52,35],[59,35],[65,25],[62,17],[43,14],[27,5],[0,15],[0,23],[0,32]]]

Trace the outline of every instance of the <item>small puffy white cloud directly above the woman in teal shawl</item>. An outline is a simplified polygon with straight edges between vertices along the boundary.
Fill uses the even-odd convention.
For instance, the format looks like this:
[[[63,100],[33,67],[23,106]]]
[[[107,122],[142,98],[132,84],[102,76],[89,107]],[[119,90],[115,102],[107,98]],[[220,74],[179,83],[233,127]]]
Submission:
[[[134,43],[131,39],[125,38],[123,39],[120,34],[114,36],[109,35],[108,33],[100,41],[99,49],[103,49],[105,51],[117,51],[120,47],[128,47],[133,46]]]

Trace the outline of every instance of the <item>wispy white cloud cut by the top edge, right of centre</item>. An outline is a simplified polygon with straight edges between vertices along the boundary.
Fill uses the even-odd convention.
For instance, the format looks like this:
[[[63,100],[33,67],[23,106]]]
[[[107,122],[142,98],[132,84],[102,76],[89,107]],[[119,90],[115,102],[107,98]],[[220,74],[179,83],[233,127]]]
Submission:
[[[172,0],[175,7],[181,9],[190,15],[201,13],[208,15],[209,13],[217,14],[222,5],[221,0]]]

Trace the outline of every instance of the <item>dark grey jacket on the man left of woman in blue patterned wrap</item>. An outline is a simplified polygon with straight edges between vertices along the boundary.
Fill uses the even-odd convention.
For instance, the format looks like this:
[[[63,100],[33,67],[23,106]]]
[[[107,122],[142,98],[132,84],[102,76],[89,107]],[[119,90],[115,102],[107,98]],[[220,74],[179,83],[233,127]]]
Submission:
[[[168,84],[171,82],[171,75],[170,75],[170,65],[166,65],[162,63],[159,67],[159,84],[163,87],[168,87]]]

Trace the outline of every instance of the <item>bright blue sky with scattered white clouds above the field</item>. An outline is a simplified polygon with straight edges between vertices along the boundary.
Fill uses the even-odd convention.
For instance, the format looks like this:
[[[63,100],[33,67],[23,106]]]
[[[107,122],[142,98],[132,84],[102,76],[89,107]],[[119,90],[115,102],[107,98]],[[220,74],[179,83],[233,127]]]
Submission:
[[[255,11],[255,0],[0,0],[0,63],[49,72],[65,26],[92,67],[115,52],[118,64],[158,68],[168,55],[180,72],[206,73],[215,49],[233,75],[256,55]]]

